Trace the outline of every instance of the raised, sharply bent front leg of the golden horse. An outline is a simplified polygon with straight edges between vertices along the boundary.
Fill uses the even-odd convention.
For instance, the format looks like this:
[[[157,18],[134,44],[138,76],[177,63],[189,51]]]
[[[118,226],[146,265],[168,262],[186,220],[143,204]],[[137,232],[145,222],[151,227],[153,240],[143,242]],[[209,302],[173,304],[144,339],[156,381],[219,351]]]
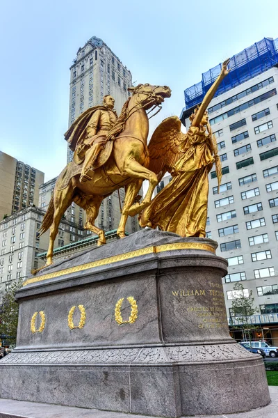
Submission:
[[[134,216],[140,213],[141,210],[147,208],[147,206],[149,206],[149,203],[151,203],[152,194],[156,185],[158,184],[158,178],[156,176],[156,173],[146,169],[133,158],[127,160],[127,162],[124,164],[124,173],[126,173],[130,177],[149,180],[149,187],[147,189],[145,198],[142,200],[142,202],[134,203],[131,206],[131,208],[129,208],[129,216]]]

